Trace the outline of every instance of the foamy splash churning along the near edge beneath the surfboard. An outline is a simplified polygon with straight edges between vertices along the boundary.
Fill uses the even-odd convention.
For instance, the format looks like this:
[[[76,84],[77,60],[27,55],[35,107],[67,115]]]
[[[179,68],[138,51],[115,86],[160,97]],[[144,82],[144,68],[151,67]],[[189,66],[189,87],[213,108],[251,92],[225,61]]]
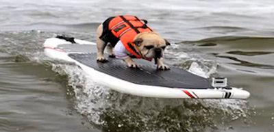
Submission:
[[[52,70],[67,75],[75,109],[104,131],[205,131],[249,116],[247,101],[132,96],[97,85],[77,66]]]

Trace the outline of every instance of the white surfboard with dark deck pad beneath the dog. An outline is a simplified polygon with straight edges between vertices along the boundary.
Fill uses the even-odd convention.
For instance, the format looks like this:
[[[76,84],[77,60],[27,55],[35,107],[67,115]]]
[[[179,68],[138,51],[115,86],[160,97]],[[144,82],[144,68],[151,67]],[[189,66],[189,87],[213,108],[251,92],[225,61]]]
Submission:
[[[45,54],[53,59],[74,62],[101,85],[136,96],[157,98],[248,98],[249,92],[238,88],[214,88],[209,79],[186,70],[156,70],[152,62],[135,60],[141,68],[128,68],[123,60],[108,57],[107,63],[96,61],[96,44],[74,39],[49,38]]]

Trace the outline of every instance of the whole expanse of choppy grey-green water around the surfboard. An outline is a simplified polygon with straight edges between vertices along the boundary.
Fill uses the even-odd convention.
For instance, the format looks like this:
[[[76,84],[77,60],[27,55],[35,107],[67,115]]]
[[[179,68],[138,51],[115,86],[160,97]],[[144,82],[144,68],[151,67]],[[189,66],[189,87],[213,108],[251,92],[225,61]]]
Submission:
[[[274,131],[274,2],[0,1],[0,131]],[[92,82],[43,54],[45,38],[95,41],[105,18],[134,14],[170,40],[166,62],[222,75],[242,100],[144,98]]]

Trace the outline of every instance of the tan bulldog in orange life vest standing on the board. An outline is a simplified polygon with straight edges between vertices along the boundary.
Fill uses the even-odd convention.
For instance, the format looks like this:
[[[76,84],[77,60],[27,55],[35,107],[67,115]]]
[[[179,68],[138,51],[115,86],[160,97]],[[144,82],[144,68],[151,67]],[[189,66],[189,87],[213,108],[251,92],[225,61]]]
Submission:
[[[109,57],[123,59],[130,68],[138,68],[132,58],[153,60],[159,70],[169,70],[164,64],[164,49],[170,43],[136,16],[113,16],[97,28],[97,62],[108,62],[104,57],[107,47]]]

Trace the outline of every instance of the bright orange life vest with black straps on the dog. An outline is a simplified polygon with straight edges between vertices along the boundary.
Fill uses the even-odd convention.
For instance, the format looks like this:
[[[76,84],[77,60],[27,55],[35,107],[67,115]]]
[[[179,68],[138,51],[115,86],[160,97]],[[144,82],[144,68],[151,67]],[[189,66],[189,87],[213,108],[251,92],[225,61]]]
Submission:
[[[144,58],[140,52],[136,51],[134,48],[136,47],[134,44],[134,38],[139,33],[153,31],[150,27],[147,26],[147,22],[141,21],[136,16],[116,16],[110,21],[108,29],[114,36],[121,40],[125,46],[125,49],[127,49],[129,53],[134,55],[136,58]]]

